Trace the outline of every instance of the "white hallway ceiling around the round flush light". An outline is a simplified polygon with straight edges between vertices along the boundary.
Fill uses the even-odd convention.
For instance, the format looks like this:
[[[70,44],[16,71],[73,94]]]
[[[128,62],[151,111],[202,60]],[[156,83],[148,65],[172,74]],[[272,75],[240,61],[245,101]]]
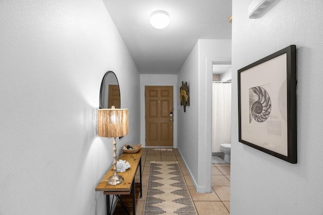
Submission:
[[[231,39],[231,0],[103,0],[140,74],[177,74],[198,39]],[[171,23],[155,29],[150,14]]]

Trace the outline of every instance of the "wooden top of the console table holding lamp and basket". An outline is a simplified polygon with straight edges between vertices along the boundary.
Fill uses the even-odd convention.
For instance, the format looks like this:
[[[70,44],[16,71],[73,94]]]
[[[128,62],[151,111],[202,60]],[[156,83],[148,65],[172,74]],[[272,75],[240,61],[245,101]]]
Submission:
[[[135,178],[135,174],[139,165],[139,161],[141,158],[142,148],[136,153],[122,153],[120,157],[117,159],[128,161],[130,164],[130,168],[126,170],[126,172],[119,172],[118,175],[121,175],[124,178],[124,182],[118,185],[109,185],[106,183],[106,180],[113,175],[113,165],[109,171],[106,172],[102,180],[96,185],[95,191],[103,191],[103,192],[122,192],[131,190],[132,181]]]

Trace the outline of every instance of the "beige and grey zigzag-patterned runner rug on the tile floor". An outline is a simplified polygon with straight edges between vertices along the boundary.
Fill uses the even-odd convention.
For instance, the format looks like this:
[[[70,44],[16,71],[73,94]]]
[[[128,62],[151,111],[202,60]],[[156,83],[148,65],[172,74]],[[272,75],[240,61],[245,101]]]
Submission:
[[[197,214],[178,162],[150,162],[144,214]]]

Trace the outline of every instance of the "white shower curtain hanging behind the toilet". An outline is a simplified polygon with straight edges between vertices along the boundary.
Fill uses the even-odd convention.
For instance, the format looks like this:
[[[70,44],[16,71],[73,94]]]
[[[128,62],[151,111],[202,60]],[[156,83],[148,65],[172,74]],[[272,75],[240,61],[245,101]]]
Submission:
[[[231,83],[213,82],[212,152],[221,152],[220,144],[231,143]]]

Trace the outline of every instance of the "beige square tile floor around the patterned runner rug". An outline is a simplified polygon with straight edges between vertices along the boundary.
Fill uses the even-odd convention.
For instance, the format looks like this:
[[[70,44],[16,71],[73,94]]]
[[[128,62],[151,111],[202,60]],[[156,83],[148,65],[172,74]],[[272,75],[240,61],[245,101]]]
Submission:
[[[177,149],[143,149],[142,162],[142,199],[137,203],[136,214],[143,214],[145,194],[148,183],[150,161],[178,161],[186,184],[199,215],[230,214],[230,164],[212,164],[212,192],[197,193]],[[139,182],[139,168],[135,178]]]

